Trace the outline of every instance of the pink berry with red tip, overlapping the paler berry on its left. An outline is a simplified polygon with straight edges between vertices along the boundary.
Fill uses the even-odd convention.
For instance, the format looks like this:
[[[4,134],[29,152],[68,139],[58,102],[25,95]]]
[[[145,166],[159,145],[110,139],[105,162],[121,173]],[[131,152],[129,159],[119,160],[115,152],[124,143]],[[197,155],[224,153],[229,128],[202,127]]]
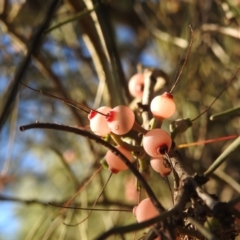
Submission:
[[[119,105],[108,113],[107,122],[113,133],[123,135],[132,129],[135,115],[129,107]]]

